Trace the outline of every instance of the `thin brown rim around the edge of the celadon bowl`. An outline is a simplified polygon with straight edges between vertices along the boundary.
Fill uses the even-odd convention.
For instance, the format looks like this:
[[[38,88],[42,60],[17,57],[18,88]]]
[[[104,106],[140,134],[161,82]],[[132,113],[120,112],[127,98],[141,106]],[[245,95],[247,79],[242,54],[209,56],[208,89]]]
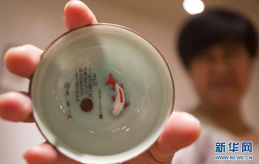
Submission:
[[[163,58],[163,60],[164,60],[164,62],[165,62],[165,64],[166,64],[167,69],[169,70],[169,74],[170,74],[171,81],[172,81],[172,88],[173,88],[173,90],[172,90],[172,96],[173,96],[173,102],[172,102],[172,107],[171,107],[171,111],[170,111],[170,114],[169,114],[169,117],[170,117],[170,115],[171,115],[172,112],[173,112],[174,103],[175,103],[175,87],[174,87],[174,80],[173,80],[173,76],[172,76],[171,70],[170,70],[170,68],[169,68],[169,65],[168,65],[166,59],[164,58],[164,56],[161,54],[161,52],[160,52],[148,39],[146,39],[143,35],[139,34],[138,32],[136,32],[136,31],[134,31],[134,30],[132,30],[132,29],[130,29],[130,28],[128,28],[128,27],[124,27],[124,26],[121,26],[121,25],[118,25],[118,24],[112,24],[112,23],[96,23],[96,24],[87,24],[87,25],[84,25],[84,26],[82,26],[82,27],[70,29],[70,30],[64,32],[63,34],[61,34],[60,36],[58,36],[55,40],[53,40],[53,41],[44,49],[44,51],[41,53],[40,60],[42,59],[42,56],[46,53],[46,51],[47,51],[57,40],[59,40],[61,37],[67,35],[67,34],[70,33],[70,32],[73,32],[73,31],[75,31],[75,30],[77,30],[77,29],[81,29],[81,28],[89,27],[89,26],[99,26],[99,25],[115,26],[115,27],[119,27],[119,28],[126,29],[126,30],[128,30],[128,31],[131,31],[131,32],[133,32],[133,33],[139,35],[140,37],[142,37],[144,40],[146,40],[146,41],[147,41],[150,45],[152,45],[152,47],[154,47],[154,48],[156,49],[156,51],[160,54],[160,56]],[[35,70],[36,70],[36,69],[35,69]],[[34,70],[34,72],[35,72],[35,70]],[[32,75],[29,77],[28,96],[30,97],[31,102],[32,102],[32,95],[31,95],[31,88],[32,88],[32,87],[31,87],[31,86],[32,86],[32,80],[33,80],[34,72],[33,72]],[[55,149],[57,152],[59,152],[60,154],[64,155],[65,157],[67,157],[67,158],[69,158],[69,159],[72,159],[72,160],[74,160],[74,161],[76,161],[76,162],[83,163],[82,161],[80,161],[80,160],[78,160],[78,159],[72,158],[72,157],[70,157],[70,156],[64,154],[64,153],[61,152],[59,149],[57,149],[57,147],[56,147],[54,144],[52,144],[52,143],[47,139],[47,137],[43,134],[43,132],[42,132],[41,129],[39,128],[39,125],[38,125],[38,123],[37,123],[37,121],[36,121],[36,119],[35,119],[35,117],[34,117],[34,113],[33,113],[33,111],[34,111],[34,109],[33,109],[33,102],[31,103],[31,108],[32,108],[32,117],[33,117],[33,119],[34,119],[34,122],[35,122],[35,124],[36,124],[38,130],[40,131],[40,133],[42,134],[42,136],[43,136],[44,139],[46,140],[46,143],[50,144],[52,147],[54,147],[54,149]],[[168,118],[169,118],[169,117],[168,117]],[[168,118],[167,118],[167,119],[168,119]],[[159,137],[160,137],[160,136],[161,136],[161,134],[159,135]],[[132,159],[134,159],[134,158],[137,158],[138,156],[140,156],[141,154],[143,154],[144,152],[146,152],[147,150],[149,150],[149,149],[158,141],[159,137],[158,137],[147,149],[143,150],[143,151],[142,151],[141,153],[139,153],[138,155],[136,155],[136,156],[134,156],[134,157],[132,157],[132,158],[129,158],[129,159],[127,159],[127,160],[120,161],[120,162],[118,162],[118,163],[109,163],[109,164],[124,163],[124,162],[127,162],[127,161],[129,161],[129,160],[132,160]],[[87,164],[87,163],[83,163],[83,164]]]

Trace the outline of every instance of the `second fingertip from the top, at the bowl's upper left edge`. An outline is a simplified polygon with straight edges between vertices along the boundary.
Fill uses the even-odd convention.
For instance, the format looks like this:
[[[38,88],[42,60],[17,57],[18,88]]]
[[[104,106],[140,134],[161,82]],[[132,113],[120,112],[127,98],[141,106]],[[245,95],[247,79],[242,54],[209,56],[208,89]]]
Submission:
[[[7,50],[4,62],[10,72],[29,78],[39,64],[41,53],[42,50],[33,45],[12,47]]]

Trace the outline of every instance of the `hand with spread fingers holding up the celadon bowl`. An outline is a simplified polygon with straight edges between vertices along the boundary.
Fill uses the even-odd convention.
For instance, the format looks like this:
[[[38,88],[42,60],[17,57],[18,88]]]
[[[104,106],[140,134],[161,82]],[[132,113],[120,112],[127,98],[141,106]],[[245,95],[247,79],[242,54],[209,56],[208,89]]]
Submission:
[[[69,1],[64,9],[64,21],[68,30],[95,24],[97,20],[83,2]],[[12,73],[29,78],[40,62],[42,50],[33,45],[10,48],[4,61]],[[31,100],[27,93],[8,92],[0,95],[0,116],[14,122],[34,122]],[[174,153],[194,142],[200,133],[199,121],[190,114],[173,112],[167,120],[159,140],[146,152],[126,163],[171,163]],[[29,164],[76,164],[47,142],[30,147],[24,153]]]

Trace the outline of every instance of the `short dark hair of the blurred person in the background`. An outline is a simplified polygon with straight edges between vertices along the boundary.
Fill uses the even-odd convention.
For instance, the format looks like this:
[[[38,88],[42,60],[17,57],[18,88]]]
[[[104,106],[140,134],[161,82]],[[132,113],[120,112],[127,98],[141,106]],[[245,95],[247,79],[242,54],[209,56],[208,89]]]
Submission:
[[[241,41],[254,57],[257,49],[256,31],[245,17],[225,9],[212,9],[197,14],[180,32],[178,51],[186,68],[197,53],[225,40]]]

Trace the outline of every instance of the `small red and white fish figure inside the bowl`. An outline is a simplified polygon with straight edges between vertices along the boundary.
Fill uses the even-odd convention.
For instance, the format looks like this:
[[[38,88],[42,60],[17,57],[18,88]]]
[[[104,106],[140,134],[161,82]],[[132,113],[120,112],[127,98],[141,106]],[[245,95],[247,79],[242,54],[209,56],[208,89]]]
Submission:
[[[125,96],[123,92],[123,85],[120,86],[116,83],[113,79],[112,74],[109,75],[109,80],[105,83],[105,85],[112,84],[113,87],[111,88],[113,91],[116,91],[116,98],[112,96],[113,104],[113,116],[117,116],[121,113],[124,107],[128,106],[129,103],[125,103]]]

